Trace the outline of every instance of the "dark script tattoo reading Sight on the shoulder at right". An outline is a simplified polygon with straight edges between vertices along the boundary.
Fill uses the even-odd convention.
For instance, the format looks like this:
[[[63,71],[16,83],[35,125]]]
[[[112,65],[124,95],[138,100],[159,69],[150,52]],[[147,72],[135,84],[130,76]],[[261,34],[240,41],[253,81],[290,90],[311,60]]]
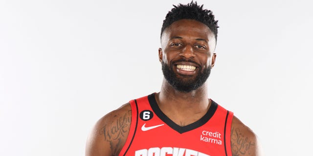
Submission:
[[[240,129],[231,129],[231,152],[233,156],[243,156],[246,154],[250,156],[251,146],[255,146],[255,143],[249,141],[248,137],[245,137]]]

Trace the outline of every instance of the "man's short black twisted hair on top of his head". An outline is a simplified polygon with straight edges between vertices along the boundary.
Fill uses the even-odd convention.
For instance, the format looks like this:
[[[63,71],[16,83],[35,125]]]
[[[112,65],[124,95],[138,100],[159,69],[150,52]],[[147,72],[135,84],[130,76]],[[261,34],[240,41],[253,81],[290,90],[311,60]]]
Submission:
[[[217,25],[218,20],[214,20],[214,15],[211,10],[203,9],[203,5],[198,5],[197,1],[191,1],[187,5],[180,4],[178,6],[173,5],[171,11],[169,11],[163,20],[161,29],[161,37],[163,31],[170,26],[172,23],[182,19],[198,20],[210,28],[217,40]]]

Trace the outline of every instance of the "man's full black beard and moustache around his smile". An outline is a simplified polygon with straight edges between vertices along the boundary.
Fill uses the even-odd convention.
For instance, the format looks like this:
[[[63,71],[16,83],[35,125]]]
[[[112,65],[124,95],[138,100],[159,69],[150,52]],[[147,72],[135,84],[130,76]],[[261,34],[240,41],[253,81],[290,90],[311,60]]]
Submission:
[[[173,66],[174,66],[174,63],[181,62],[181,61],[193,62],[193,61],[180,59],[178,61],[171,63],[169,66],[162,61],[161,64],[162,64],[162,72],[163,72],[164,78],[172,85],[172,87],[174,87],[175,90],[178,90],[180,92],[188,93],[201,87],[203,83],[207,80],[207,78],[209,78],[209,75],[211,73],[211,67],[209,66],[205,68],[203,72],[201,72],[202,70],[200,67],[199,69],[200,72],[196,76],[196,78],[191,78],[190,76],[186,76],[186,75],[178,76],[173,71]],[[183,78],[179,78],[179,77],[184,77],[184,78],[189,77],[189,78],[187,80],[184,80]]]

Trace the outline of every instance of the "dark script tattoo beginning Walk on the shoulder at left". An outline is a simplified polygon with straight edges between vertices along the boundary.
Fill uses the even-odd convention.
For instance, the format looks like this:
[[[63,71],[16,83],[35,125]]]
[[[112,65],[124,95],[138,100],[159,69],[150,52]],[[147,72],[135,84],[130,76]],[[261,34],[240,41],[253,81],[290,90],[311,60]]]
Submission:
[[[129,110],[128,113],[125,113],[123,116],[115,115],[112,119],[111,124],[104,125],[99,134],[104,136],[106,141],[110,142],[112,154],[117,156],[119,151],[122,148],[122,137],[126,139],[126,135],[129,131],[129,126],[132,120],[132,111]]]

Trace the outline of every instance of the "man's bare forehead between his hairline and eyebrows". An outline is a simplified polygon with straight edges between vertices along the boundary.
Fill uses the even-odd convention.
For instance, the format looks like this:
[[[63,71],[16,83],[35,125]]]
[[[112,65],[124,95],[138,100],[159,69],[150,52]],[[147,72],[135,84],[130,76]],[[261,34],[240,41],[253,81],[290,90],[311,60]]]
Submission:
[[[206,40],[212,40],[214,34],[208,26],[197,20],[178,20],[173,22],[168,28],[166,28],[162,34],[162,38],[172,38],[172,37],[196,37]],[[214,39],[215,40],[215,39]]]

